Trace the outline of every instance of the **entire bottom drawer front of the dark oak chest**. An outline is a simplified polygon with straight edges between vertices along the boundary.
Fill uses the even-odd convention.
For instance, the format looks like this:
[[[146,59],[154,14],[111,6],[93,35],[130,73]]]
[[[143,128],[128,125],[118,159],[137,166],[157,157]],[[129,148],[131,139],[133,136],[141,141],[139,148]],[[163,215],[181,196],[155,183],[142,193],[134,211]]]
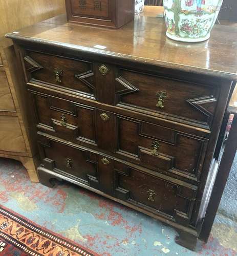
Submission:
[[[188,226],[197,186],[38,132],[42,165]]]

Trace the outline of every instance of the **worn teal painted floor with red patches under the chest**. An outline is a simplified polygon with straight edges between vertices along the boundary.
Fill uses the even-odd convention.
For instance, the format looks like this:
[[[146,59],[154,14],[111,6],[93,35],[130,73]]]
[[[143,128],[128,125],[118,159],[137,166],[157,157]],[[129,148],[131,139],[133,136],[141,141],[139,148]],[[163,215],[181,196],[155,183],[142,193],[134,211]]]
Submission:
[[[235,190],[227,188],[209,242],[198,252],[177,245],[174,229],[90,191],[71,184],[52,189],[31,183],[25,168],[10,159],[0,159],[0,204],[104,256],[233,256],[237,159],[235,163],[228,181]]]

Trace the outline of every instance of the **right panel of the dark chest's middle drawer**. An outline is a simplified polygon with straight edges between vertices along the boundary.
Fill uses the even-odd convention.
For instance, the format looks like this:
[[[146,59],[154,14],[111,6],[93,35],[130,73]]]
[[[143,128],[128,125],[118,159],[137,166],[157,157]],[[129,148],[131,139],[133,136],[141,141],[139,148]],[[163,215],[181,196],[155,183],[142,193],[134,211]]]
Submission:
[[[158,172],[199,179],[208,140],[124,117],[117,117],[117,126],[118,154],[131,160],[137,158],[139,164]],[[156,129],[157,134],[154,134]],[[161,130],[163,132],[159,133]],[[160,148],[159,154],[154,156],[156,141]]]

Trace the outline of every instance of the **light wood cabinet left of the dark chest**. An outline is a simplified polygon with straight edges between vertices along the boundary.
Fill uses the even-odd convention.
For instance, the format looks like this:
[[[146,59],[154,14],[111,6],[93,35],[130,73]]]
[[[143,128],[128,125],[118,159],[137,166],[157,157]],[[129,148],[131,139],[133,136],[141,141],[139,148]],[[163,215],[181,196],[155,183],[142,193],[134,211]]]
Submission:
[[[4,35],[64,12],[64,0],[0,0],[0,157],[21,161],[33,182],[38,182],[38,153],[26,114],[24,77]]]

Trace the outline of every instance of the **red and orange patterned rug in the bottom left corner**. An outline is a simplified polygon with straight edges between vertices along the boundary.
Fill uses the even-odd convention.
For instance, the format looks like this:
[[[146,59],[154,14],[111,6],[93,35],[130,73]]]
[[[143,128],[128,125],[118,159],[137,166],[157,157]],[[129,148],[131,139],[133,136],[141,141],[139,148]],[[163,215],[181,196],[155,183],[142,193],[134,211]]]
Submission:
[[[0,255],[94,256],[98,254],[0,205]]]

